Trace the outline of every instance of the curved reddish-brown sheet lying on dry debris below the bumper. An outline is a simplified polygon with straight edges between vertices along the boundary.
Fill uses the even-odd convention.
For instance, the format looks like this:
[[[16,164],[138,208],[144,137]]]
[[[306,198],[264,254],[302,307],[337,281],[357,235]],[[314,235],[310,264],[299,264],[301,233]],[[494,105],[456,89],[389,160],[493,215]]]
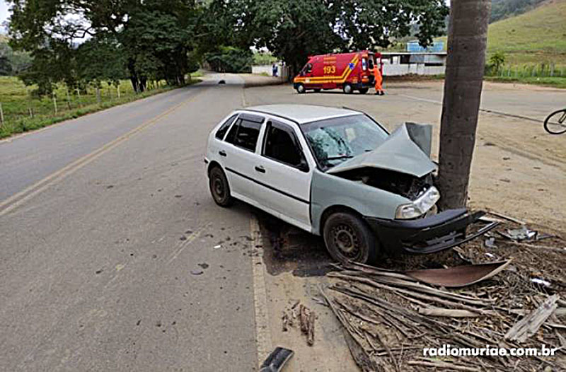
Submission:
[[[448,269],[424,269],[405,272],[409,277],[427,284],[456,288],[469,286],[502,272],[512,260],[479,265],[463,265]]]

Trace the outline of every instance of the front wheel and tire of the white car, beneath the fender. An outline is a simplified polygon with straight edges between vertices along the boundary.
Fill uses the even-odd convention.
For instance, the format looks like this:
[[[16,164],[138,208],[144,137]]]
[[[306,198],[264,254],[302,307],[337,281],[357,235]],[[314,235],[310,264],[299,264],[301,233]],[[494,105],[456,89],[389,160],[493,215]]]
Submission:
[[[323,238],[330,255],[339,262],[374,263],[378,256],[377,241],[367,223],[350,212],[328,216]]]

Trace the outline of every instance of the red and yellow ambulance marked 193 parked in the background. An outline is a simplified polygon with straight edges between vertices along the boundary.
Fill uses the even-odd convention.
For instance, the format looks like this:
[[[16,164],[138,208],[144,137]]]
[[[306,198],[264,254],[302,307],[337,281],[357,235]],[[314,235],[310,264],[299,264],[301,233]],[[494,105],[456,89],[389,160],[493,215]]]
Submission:
[[[308,57],[308,62],[295,76],[293,87],[298,93],[342,89],[347,94],[354,91],[365,94],[374,86],[371,69],[376,63],[381,66],[381,54],[368,50]]]

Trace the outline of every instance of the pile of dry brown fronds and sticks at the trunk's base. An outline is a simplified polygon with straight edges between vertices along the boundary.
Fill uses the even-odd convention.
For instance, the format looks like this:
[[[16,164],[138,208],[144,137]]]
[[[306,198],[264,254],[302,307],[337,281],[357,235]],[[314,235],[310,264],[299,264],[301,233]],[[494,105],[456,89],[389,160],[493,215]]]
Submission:
[[[501,229],[525,233],[513,225]],[[550,244],[562,246],[563,240],[551,238]],[[559,371],[566,361],[566,250],[507,239],[492,243],[383,260],[383,268],[334,265],[320,293],[361,370],[535,371],[542,364]],[[450,354],[424,354],[443,345],[540,350],[542,344],[555,354],[470,354],[466,363]]]

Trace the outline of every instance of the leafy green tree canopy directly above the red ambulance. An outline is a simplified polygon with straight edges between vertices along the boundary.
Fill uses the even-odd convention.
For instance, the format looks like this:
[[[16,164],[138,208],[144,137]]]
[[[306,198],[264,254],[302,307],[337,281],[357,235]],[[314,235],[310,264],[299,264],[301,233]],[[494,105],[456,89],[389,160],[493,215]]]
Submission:
[[[224,14],[236,39],[267,47],[287,62],[290,76],[308,55],[387,47],[394,37],[410,35],[413,25],[427,45],[444,30],[448,13],[442,0],[215,1],[230,9]]]

